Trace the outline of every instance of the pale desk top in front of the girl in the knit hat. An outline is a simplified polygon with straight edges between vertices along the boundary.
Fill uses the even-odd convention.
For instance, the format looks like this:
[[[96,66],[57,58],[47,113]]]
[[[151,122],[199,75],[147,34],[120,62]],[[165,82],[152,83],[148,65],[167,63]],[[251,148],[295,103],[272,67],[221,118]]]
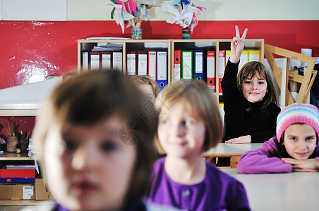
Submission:
[[[253,211],[318,210],[319,173],[239,174],[237,169],[222,169],[246,188]]]

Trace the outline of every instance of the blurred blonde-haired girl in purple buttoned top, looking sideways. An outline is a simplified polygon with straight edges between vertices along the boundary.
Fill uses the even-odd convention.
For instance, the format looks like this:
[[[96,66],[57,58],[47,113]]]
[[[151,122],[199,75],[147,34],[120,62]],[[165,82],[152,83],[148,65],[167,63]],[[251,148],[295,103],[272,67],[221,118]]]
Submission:
[[[148,200],[181,210],[250,210],[243,185],[204,162],[203,152],[222,139],[216,96],[200,81],[167,85],[155,101],[161,153]]]

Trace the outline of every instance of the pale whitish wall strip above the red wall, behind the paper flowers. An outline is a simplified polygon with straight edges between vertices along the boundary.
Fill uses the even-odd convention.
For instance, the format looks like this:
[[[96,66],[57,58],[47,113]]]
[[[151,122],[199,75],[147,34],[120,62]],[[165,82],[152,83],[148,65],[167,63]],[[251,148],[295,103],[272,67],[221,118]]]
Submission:
[[[160,0],[151,0],[160,4]],[[109,0],[0,0],[2,20],[111,20]],[[2,4],[1,4],[2,3]],[[318,0],[193,0],[207,11],[200,20],[319,20]],[[165,20],[160,8],[151,20]]]

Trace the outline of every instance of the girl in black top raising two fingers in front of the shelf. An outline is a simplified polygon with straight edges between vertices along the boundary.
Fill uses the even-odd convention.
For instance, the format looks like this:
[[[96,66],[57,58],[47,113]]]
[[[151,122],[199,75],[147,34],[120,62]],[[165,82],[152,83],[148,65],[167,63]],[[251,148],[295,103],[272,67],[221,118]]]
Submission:
[[[224,97],[224,137],[226,143],[264,142],[275,136],[280,108],[270,73],[263,63],[249,62],[239,71],[247,29],[242,37],[235,26],[231,56],[222,79]]]

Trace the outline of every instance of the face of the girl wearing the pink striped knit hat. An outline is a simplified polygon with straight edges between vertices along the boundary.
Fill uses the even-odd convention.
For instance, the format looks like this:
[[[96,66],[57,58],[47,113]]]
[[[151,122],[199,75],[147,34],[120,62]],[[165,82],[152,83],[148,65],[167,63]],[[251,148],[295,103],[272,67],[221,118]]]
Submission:
[[[316,143],[315,129],[309,124],[291,124],[284,131],[284,147],[296,160],[307,160]]]

